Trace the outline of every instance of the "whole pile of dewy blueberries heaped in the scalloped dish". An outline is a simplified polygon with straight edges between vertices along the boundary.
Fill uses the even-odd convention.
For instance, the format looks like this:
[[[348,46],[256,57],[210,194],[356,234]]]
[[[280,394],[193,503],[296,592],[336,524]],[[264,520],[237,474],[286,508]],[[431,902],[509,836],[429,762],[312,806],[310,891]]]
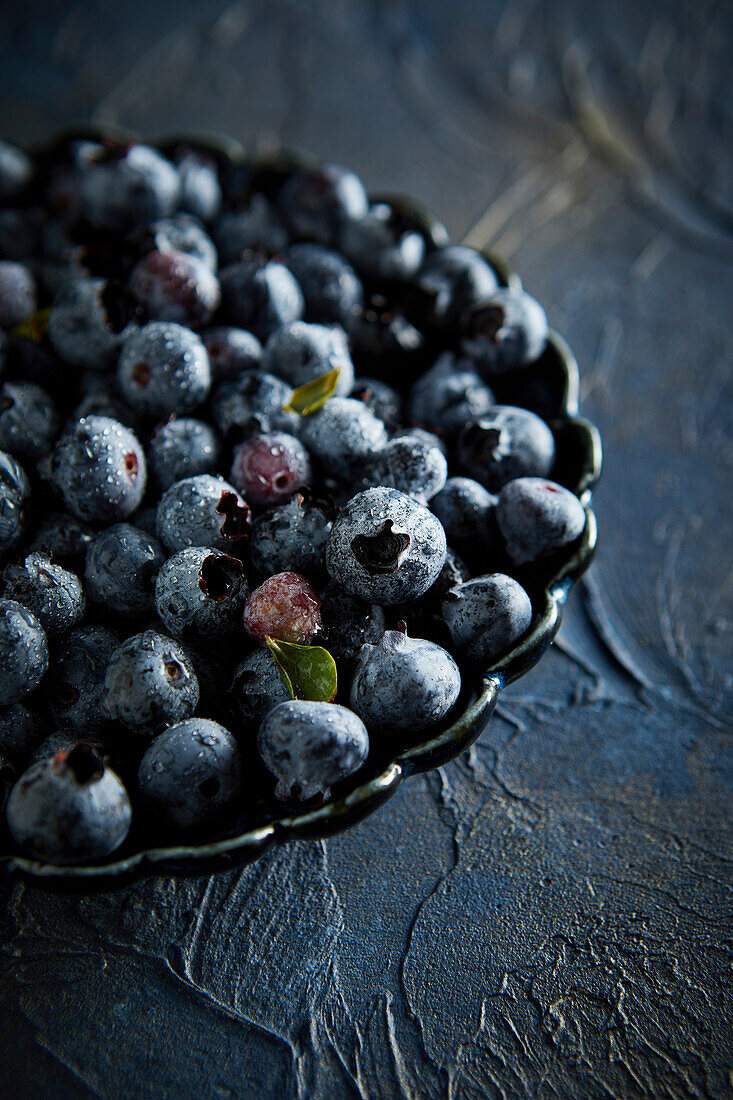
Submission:
[[[0,143],[2,827],[50,862],[328,799],[450,721],[586,525],[501,400],[532,297],[344,168],[164,152]]]

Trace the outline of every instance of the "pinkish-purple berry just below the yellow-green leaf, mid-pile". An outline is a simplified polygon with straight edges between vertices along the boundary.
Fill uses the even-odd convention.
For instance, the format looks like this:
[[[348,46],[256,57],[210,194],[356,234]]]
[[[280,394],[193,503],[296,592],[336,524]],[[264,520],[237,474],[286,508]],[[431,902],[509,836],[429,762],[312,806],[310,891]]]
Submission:
[[[252,504],[281,504],[310,485],[310,457],[295,436],[253,436],[234,451],[229,476]]]

